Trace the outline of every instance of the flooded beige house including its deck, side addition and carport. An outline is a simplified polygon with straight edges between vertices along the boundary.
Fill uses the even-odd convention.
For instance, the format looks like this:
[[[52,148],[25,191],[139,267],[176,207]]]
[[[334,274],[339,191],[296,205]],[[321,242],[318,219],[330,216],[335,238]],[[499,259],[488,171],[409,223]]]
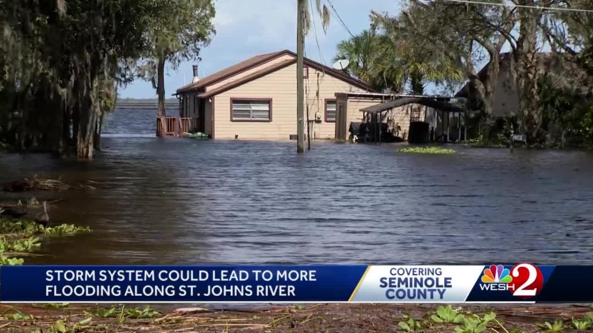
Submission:
[[[373,122],[381,123],[379,130],[385,127],[384,133],[389,131],[397,140],[408,140],[415,122],[428,123],[428,127],[422,126],[432,130],[432,139],[458,137],[445,133],[450,124],[458,129],[458,121],[443,121],[450,113],[438,112],[444,105],[439,103],[448,98],[375,92],[345,71],[306,57],[303,71],[304,126],[311,139],[352,140],[352,124]],[[161,136],[201,132],[212,139],[294,139],[296,77],[297,55],[289,50],[257,55],[204,78],[197,76],[194,66],[193,81],[174,94],[179,116],[162,117],[162,126],[157,127],[162,130],[157,132]],[[383,108],[385,105],[388,108]],[[453,118],[457,115],[458,120],[459,114],[453,113]],[[438,129],[440,132],[436,132]]]

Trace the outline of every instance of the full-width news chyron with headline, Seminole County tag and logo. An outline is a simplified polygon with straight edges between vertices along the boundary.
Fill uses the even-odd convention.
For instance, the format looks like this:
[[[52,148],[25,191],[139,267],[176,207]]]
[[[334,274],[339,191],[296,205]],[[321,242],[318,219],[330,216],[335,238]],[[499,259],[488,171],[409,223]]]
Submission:
[[[2,266],[0,303],[593,302],[593,266]]]

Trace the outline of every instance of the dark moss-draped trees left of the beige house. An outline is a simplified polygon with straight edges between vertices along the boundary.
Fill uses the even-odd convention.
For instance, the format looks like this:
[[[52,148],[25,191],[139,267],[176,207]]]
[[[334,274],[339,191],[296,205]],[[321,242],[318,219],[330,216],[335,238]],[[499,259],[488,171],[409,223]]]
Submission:
[[[92,159],[117,87],[155,56],[150,32],[195,2],[0,0],[0,142]]]

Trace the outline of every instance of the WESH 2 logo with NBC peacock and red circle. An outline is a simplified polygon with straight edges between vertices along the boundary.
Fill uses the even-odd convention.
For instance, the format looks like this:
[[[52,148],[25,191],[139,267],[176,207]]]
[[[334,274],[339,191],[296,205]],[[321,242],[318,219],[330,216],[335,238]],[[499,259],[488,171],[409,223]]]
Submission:
[[[503,265],[490,265],[482,275],[481,290],[508,290],[513,296],[530,298],[540,293],[544,286],[544,276],[532,264],[514,265],[510,270]]]

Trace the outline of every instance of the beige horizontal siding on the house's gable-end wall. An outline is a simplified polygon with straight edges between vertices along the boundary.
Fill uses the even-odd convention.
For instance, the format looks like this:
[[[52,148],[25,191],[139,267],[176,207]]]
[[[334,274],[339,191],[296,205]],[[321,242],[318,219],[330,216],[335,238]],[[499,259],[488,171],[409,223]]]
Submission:
[[[216,95],[214,104],[216,139],[234,139],[235,135],[238,136],[238,139],[289,139],[290,135],[296,134],[296,76],[297,65],[295,63]],[[305,87],[307,87],[305,101],[309,107],[309,119],[318,119],[318,122],[313,124],[311,136],[333,138],[335,124],[325,121],[325,99],[335,99],[336,92],[362,92],[362,89],[323,72],[318,72],[314,68],[309,68]],[[272,121],[232,121],[231,98],[247,100],[271,98]],[[305,133],[307,133],[306,114],[304,126]]]

